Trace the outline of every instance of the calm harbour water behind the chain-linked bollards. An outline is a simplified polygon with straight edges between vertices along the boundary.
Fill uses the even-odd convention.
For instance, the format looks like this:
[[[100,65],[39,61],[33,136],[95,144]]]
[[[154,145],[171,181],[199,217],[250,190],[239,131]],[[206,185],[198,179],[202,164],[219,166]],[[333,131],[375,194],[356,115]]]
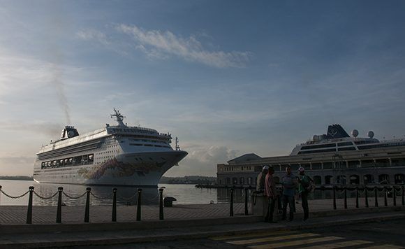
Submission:
[[[29,186],[34,186],[35,192],[41,197],[51,197],[58,190],[58,187],[64,187],[64,192],[69,197],[79,197],[86,192],[85,185],[62,185],[52,183],[35,183],[29,180],[0,180],[3,192],[16,197],[27,192]],[[91,196],[91,205],[107,205],[112,203],[112,187],[90,186],[91,193],[98,199]],[[163,197],[175,197],[175,204],[209,204],[228,202],[230,198],[229,190],[223,189],[198,189],[195,185],[183,184],[159,184],[159,187],[165,187]],[[136,187],[117,187],[117,203],[124,205],[134,205],[137,200]],[[0,205],[27,205],[28,194],[19,199],[11,199],[4,194],[0,194]],[[34,194],[34,205],[51,206],[57,205],[57,196],[52,199],[41,199]],[[84,205],[86,198],[70,199],[62,195],[62,201],[68,206]],[[235,190],[235,202],[244,201],[244,194],[241,190]],[[159,190],[157,188],[142,188],[142,204],[158,204]]]

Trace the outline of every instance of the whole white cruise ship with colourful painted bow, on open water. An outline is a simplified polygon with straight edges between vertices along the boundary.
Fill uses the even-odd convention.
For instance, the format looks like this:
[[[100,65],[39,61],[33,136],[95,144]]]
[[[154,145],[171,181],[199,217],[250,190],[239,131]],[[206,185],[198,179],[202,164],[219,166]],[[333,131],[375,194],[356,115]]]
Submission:
[[[34,180],[38,183],[157,186],[161,176],[186,157],[170,146],[172,136],[154,129],[129,127],[115,110],[118,125],[79,135],[66,126],[58,141],[36,154]]]

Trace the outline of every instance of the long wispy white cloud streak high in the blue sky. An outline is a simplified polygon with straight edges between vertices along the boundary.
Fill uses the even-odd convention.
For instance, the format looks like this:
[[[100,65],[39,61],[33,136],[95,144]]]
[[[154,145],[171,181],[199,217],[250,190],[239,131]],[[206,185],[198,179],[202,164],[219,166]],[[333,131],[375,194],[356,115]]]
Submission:
[[[135,48],[147,55],[149,59],[168,59],[177,56],[189,62],[199,62],[208,66],[244,67],[251,59],[251,52],[209,51],[195,36],[182,38],[171,31],[144,30],[135,25],[117,24],[115,30],[131,36],[131,41],[115,40],[101,31],[87,29],[78,31],[76,36],[84,41],[97,41],[123,55],[128,55],[129,48]],[[135,45],[133,42],[135,41]]]

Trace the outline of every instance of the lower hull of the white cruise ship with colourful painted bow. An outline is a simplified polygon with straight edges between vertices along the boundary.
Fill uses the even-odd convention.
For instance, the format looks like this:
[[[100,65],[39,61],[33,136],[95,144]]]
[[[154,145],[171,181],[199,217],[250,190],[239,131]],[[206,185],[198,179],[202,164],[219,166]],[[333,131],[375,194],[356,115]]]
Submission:
[[[40,169],[34,180],[38,183],[154,187],[161,176],[186,155],[182,150],[121,153],[102,164]]]

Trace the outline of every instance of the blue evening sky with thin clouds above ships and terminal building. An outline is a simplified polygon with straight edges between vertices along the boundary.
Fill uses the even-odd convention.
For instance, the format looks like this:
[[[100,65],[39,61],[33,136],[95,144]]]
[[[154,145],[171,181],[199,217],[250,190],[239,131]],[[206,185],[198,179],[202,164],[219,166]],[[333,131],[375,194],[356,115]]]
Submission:
[[[0,0],[0,175],[112,108],[189,155],[289,155],[327,125],[405,138],[405,1]],[[172,145],[174,147],[174,145]]]

